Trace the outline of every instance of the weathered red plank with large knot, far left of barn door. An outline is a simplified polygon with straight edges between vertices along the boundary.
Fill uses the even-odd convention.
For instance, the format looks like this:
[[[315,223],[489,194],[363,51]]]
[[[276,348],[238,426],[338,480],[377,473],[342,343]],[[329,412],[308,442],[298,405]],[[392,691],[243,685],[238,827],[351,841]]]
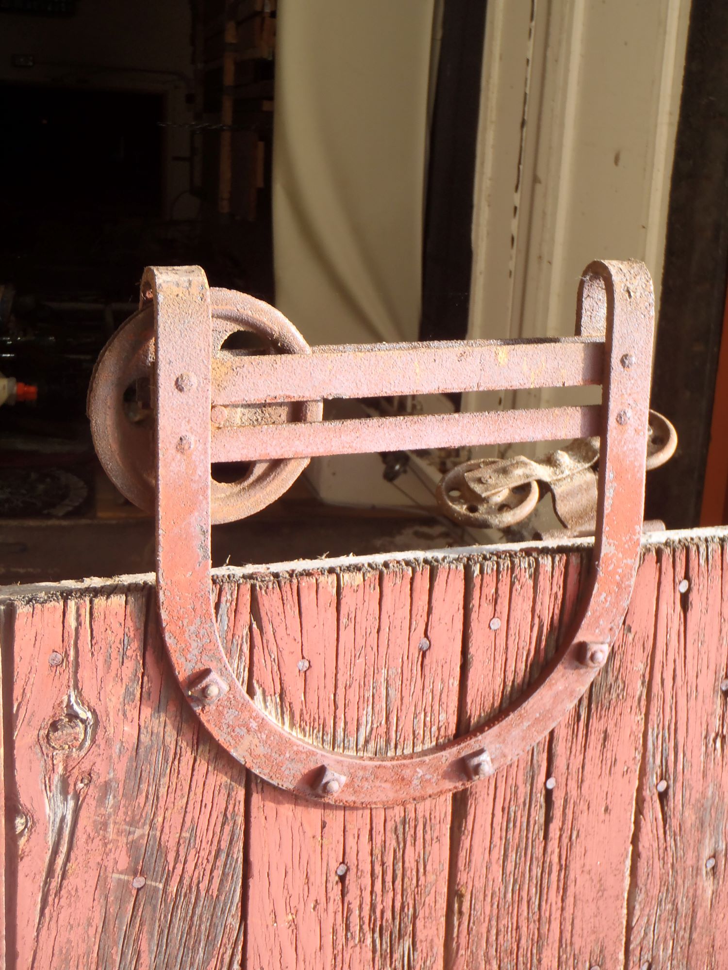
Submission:
[[[18,610],[18,970],[240,957],[244,769],[190,717],[152,602]]]

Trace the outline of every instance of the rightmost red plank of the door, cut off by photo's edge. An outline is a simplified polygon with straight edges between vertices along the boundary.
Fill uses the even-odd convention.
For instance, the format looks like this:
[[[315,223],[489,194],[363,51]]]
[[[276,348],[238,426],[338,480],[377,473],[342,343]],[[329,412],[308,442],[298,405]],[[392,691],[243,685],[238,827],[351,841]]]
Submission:
[[[726,965],[728,569],[716,541],[659,551],[627,965]],[[680,583],[687,583],[680,592]]]

